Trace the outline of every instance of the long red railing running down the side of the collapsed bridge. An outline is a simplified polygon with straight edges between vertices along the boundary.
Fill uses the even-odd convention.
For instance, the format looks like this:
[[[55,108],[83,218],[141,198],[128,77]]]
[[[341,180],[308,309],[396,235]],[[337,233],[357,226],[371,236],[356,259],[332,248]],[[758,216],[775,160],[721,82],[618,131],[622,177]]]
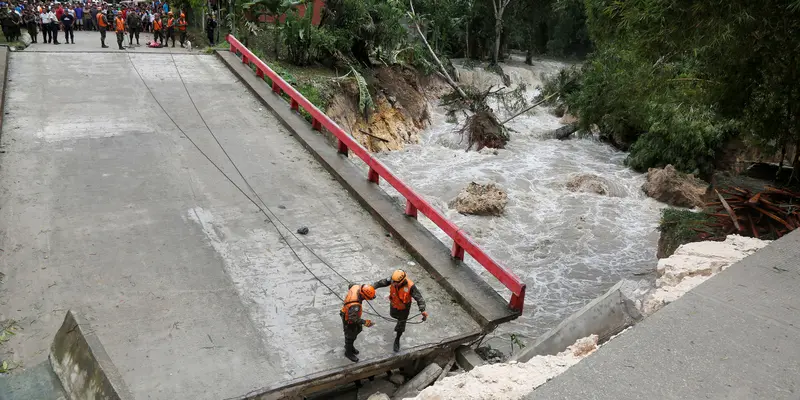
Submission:
[[[237,52],[241,54],[243,64],[253,64],[256,67],[256,75],[259,77],[268,77],[272,81],[272,91],[278,94],[281,92],[286,93],[291,99],[290,107],[292,110],[298,110],[302,107],[306,112],[311,114],[311,127],[315,130],[321,130],[323,127],[333,134],[338,139],[338,151],[340,154],[347,155],[348,152],[353,152],[369,167],[367,179],[376,185],[383,178],[392,187],[395,188],[406,199],[405,214],[409,217],[416,218],[417,213],[421,212],[428,217],[436,226],[443,230],[451,239],[453,239],[452,256],[459,260],[464,259],[466,252],[472,256],[489,273],[494,275],[500,283],[505,285],[511,291],[511,301],[509,307],[512,310],[522,312],[525,303],[525,283],[523,283],[513,272],[498,264],[492,257],[484,253],[472,239],[467,236],[455,224],[445,218],[439,211],[431,206],[425,199],[418,195],[413,189],[408,187],[403,181],[397,178],[383,163],[378,161],[367,151],[360,143],[358,143],[352,136],[347,134],[342,128],[339,127],[333,120],[328,118],[322,111],[317,109],[310,101],[300,94],[292,85],[286,83],[275,71],[267,66],[264,61],[256,57],[247,47],[245,47],[239,40],[232,35],[226,37],[230,43],[230,51],[234,54]]]

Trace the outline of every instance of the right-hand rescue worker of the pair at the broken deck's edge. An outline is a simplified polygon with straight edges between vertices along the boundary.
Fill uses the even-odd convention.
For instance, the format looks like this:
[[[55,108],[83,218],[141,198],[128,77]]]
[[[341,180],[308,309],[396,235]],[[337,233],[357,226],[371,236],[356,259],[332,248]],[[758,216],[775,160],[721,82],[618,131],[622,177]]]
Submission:
[[[411,299],[417,301],[419,312],[422,313],[422,320],[428,319],[428,313],[425,311],[425,299],[422,298],[422,293],[419,291],[414,282],[408,279],[406,272],[398,269],[392,273],[392,278],[383,279],[375,282],[375,289],[389,286],[389,315],[397,320],[397,325],[394,331],[397,336],[394,338],[394,351],[400,351],[400,336],[406,331],[406,321],[408,314],[411,313]]]

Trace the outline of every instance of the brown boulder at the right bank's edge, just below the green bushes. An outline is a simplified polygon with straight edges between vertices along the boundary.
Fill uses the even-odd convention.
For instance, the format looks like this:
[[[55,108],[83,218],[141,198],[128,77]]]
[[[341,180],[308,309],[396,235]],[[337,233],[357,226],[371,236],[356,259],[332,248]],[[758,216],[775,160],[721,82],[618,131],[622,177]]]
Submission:
[[[703,207],[709,185],[675,170],[672,165],[650,168],[642,190],[650,197],[676,207]]]

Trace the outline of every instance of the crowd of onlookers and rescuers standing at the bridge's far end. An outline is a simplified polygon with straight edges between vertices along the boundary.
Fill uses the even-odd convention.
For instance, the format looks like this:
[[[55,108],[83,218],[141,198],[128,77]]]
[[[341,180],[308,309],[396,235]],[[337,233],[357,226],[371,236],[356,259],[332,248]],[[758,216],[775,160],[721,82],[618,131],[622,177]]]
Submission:
[[[206,21],[206,34],[214,43],[214,30],[217,27],[213,14]],[[181,10],[172,10],[166,2],[122,2],[112,5],[106,2],[83,0],[61,3],[58,1],[20,1],[5,3],[0,1],[0,24],[3,35],[9,42],[20,40],[22,29],[28,31],[32,43],[39,43],[39,32],[42,43],[61,44],[59,33],[64,33],[65,44],[75,44],[74,31],[99,31],[100,44],[107,48],[106,32],[114,31],[117,45],[124,50],[125,35],[128,45],[133,42],[139,45],[139,34],[153,33],[154,40],[148,43],[151,47],[168,46],[170,39],[175,47],[175,36],[178,36],[181,47],[185,47],[188,22],[186,14]]]

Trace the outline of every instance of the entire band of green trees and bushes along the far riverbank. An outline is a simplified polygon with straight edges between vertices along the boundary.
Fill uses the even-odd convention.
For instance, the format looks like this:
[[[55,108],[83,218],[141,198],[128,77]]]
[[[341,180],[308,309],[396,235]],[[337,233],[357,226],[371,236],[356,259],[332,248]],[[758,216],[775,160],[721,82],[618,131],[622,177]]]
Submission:
[[[413,1],[413,3],[412,3]],[[582,59],[545,88],[630,151],[644,170],[673,164],[708,179],[734,137],[765,153],[800,151],[800,0],[327,0],[320,26],[298,2],[223,4],[238,37],[295,65],[433,71],[434,52],[527,62]],[[410,13],[412,4],[415,13]],[[261,15],[287,14],[284,22]],[[344,73],[344,72],[343,72]],[[794,150],[794,151],[793,151]]]

